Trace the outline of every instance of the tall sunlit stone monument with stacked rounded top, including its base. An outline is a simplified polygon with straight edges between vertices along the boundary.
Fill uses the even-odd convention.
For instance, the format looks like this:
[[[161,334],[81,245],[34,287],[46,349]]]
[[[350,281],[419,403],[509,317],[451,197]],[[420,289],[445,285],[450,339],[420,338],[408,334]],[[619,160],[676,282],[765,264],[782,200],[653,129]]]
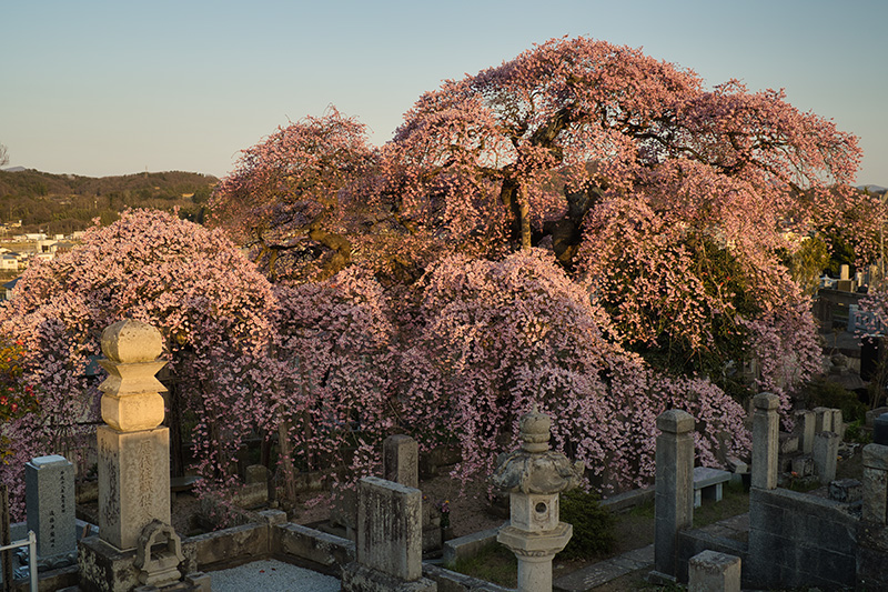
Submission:
[[[79,543],[80,589],[195,590],[181,582],[181,541],[170,526],[170,435],[160,425],[165,389],[154,378],[165,363],[160,332],[120,321],[102,332],[102,352],[110,375],[99,387],[99,536]]]

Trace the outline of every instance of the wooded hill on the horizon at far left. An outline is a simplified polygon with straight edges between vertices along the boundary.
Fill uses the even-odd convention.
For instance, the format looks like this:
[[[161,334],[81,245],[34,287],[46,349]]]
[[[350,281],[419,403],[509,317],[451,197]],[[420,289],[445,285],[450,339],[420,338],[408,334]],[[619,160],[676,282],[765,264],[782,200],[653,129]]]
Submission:
[[[219,180],[208,174],[169,171],[121,177],[52,174],[36,170],[0,171],[0,221],[21,220],[22,232],[70,234],[101,218],[118,219],[125,208],[180,209],[203,221],[203,209]]]

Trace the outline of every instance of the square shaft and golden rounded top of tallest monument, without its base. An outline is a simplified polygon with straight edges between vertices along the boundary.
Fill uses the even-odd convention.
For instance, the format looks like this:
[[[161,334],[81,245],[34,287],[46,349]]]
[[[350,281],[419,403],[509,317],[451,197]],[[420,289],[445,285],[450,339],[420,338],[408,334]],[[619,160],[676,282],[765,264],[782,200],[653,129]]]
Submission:
[[[170,434],[161,428],[165,389],[163,341],[149,324],[124,320],[102,333],[99,363],[110,374],[99,387],[99,538],[134,549],[151,521],[170,523]]]

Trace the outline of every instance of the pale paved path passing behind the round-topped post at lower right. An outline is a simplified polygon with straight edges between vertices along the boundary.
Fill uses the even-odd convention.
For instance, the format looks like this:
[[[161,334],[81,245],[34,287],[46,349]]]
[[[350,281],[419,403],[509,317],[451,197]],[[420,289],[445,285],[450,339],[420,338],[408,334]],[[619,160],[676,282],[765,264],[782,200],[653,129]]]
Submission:
[[[699,529],[716,536],[736,539],[749,532],[749,514],[739,514]],[[654,545],[587,565],[553,582],[555,592],[588,592],[644,568],[654,569]]]

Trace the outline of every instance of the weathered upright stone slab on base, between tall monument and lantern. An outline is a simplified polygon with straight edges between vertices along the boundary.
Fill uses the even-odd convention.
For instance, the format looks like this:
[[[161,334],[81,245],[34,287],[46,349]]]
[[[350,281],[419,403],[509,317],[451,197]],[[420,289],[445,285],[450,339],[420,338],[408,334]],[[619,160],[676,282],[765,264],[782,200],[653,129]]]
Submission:
[[[357,485],[356,561],[342,571],[345,592],[435,592],[423,575],[422,492],[377,476]]]

